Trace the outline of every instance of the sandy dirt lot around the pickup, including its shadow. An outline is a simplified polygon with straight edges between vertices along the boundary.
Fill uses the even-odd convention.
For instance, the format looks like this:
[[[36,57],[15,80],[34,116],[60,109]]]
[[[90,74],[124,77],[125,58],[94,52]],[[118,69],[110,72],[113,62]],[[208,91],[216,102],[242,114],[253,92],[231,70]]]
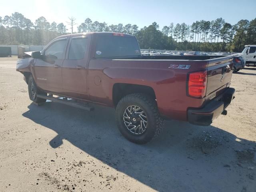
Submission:
[[[233,74],[227,116],[136,145],[112,108],[32,104],[16,60],[0,58],[1,192],[256,192],[256,68]]]

